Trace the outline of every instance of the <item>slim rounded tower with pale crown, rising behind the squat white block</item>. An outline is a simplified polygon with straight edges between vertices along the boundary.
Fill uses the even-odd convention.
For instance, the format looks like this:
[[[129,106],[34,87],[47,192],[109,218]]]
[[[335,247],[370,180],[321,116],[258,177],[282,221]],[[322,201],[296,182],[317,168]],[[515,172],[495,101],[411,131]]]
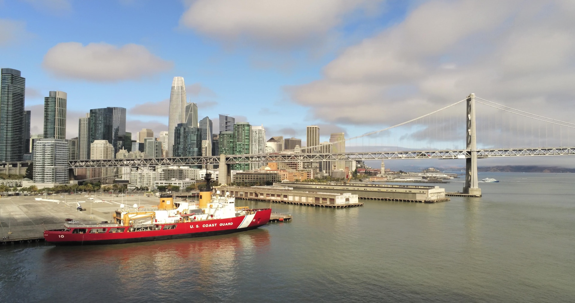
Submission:
[[[44,138],[66,139],[66,103],[68,94],[50,91],[44,98]]]

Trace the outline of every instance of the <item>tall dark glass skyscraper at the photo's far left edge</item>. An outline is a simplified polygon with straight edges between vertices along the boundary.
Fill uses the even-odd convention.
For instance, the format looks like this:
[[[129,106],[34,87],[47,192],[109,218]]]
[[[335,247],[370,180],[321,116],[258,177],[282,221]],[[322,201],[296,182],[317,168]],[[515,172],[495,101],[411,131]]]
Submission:
[[[0,72],[0,161],[22,161],[26,79],[16,69],[2,68]]]

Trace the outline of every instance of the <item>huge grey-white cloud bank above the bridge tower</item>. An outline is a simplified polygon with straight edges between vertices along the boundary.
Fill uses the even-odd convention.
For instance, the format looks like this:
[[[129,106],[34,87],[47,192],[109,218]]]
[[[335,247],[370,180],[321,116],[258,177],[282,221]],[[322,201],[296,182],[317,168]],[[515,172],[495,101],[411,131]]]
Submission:
[[[286,91],[328,123],[393,125],[471,92],[571,121],[572,3],[428,1]]]

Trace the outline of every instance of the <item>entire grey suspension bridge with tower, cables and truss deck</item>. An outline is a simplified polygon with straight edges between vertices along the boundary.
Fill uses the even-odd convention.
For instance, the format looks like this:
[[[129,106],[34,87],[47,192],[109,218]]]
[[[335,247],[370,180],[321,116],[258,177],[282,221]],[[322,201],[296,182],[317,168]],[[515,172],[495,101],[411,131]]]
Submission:
[[[465,116],[458,104],[465,105]],[[476,110],[481,104],[482,110]],[[231,182],[234,164],[400,159],[465,159],[463,193],[481,196],[477,159],[494,157],[573,156],[575,124],[518,110],[500,103],[467,98],[381,130],[338,142],[279,153],[202,157],[72,160],[70,169],[129,166],[219,165],[220,183]],[[464,144],[461,144],[465,142]],[[344,144],[346,152],[332,148]],[[461,146],[459,146],[461,144]],[[325,148],[327,145],[328,148]],[[364,152],[365,150],[365,152]],[[374,152],[373,150],[379,150]]]

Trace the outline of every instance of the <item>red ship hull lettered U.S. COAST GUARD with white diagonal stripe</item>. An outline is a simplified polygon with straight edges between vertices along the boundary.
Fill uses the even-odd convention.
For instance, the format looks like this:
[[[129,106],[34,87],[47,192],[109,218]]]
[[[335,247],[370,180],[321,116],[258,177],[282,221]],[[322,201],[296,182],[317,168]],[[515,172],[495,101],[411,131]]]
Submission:
[[[74,232],[74,228],[68,230],[47,230],[44,231],[46,242],[53,244],[119,244],[145,242],[155,240],[193,238],[199,236],[212,236],[231,234],[232,232],[246,231],[258,228],[267,224],[270,220],[271,209],[257,209],[252,215],[231,217],[228,219],[205,220],[196,222],[182,222],[175,224],[158,224],[158,230],[150,231],[129,231],[125,228],[123,232],[110,232],[116,227],[82,228],[85,233]],[[164,229],[164,226],[175,226],[175,228]],[[92,229],[105,232],[91,232]]]

